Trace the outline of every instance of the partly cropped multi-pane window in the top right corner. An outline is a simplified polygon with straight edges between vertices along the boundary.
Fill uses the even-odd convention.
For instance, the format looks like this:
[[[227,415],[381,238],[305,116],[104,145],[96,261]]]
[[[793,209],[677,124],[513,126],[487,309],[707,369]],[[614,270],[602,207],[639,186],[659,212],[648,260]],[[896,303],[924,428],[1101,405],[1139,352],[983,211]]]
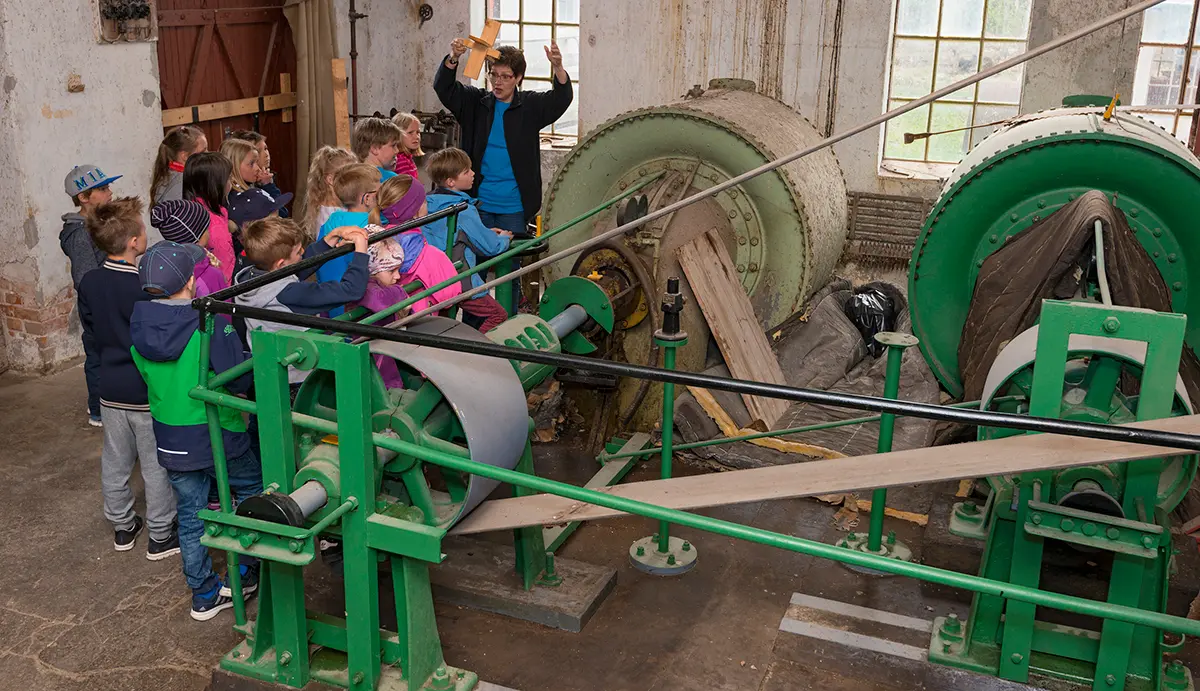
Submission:
[[[1200,36],[1196,35],[1196,12],[1193,0],[1166,0],[1142,16],[1141,46],[1138,48],[1138,71],[1133,79],[1134,106],[1142,118],[1158,122],[1183,142],[1192,133],[1192,110],[1187,106],[1196,100],[1196,71],[1200,67]],[[1188,44],[1192,55],[1188,58]],[[1183,71],[1187,68],[1187,90]],[[1156,106],[1160,108],[1156,108]]]

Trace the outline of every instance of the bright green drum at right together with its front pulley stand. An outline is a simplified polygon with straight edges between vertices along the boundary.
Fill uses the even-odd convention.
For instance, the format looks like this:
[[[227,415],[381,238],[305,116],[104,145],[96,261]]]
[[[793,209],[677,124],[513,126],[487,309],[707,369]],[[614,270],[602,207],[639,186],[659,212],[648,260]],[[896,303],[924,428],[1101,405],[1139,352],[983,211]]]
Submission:
[[[1104,108],[1018,118],[982,142],[947,180],[913,252],[913,332],[938,379],[962,393],[959,341],[983,260],[1079,196],[1100,191],[1123,211],[1172,290],[1175,313],[1099,304],[1097,290],[1045,301],[1038,325],[991,362],[980,408],[1105,423],[1192,413],[1178,377],[1200,331],[1189,266],[1200,266],[1200,161],[1158,126]],[[1100,259],[1103,262],[1103,259]],[[1100,274],[1103,281],[1103,272]],[[1196,314],[1200,316],[1200,314]],[[980,428],[980,439],[1012,435]],[[950,531],[986,540],[980,575],[1040,587],[1046,541],[1111,560],[1108,602],[1165,612],[1170,511],[1196,474],[1189,455],[989,477],[983,506],[954,506]],[[1038,617],[1036,607],[977,595],[966,621],[935,624],[930,657],[1026,681],[1031,674],[1096,690],[1192,689],[1159,631],[1112,621],[1098,630]]]

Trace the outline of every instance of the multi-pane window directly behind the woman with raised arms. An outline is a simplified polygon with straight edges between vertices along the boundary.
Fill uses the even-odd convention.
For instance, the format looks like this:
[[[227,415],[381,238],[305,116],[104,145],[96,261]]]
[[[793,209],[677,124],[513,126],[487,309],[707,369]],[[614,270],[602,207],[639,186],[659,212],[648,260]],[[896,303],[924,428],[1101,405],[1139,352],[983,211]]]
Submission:
[[[486,17],[500,20],[500,44],[524,52],[523,89],[551,88],[545,48],[553,40],[563,53],[563,68],[571,77],[575,100],[566,113],[544,132],[576,137],[580,132],[580,0],[487,0]]]

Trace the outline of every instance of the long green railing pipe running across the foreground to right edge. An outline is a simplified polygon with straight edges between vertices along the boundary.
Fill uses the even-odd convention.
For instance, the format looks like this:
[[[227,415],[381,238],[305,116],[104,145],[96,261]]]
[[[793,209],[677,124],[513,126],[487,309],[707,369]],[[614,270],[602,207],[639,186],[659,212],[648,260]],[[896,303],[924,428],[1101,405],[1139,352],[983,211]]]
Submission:
[[[230,408],[246,413],[254,413],[256,410],[256,405],[252,401],[238,398],[236,396],[230,396],[228,393],[217,393],[215,391],[197,387],[192,390],[191,395],[192,397],[202,401],[229,405]],[[292,420],[293,423],[299,427],[316,429],[326,434],[337,433],[337,423],[329,420],[322,420],[320,417],[304,415],[300,413],[293,413]],[[1032,602],[1033,605],[1038,605],[1040,607],[1051,607],[1088,617],[1115,619],[1117,621],[1126,621],[1139,626],[1148,626],[1151,629],[1183,633],[1187,636],[1200,636],[1200,621],[1193,621],[1182,617],[1172,617],[1159,612],[1148,612],[1122,605],[1110,605],[1108,602],[1061,595],[1058,593],[1048,593],[1045,590],[1026,585],[1016,585],[1013,583],[994,581],[991,578],[983,578],[980,576],[970,576],[956,571],[935,569],[924,564],[888,559],[886,557],[877,557],[875,554],[866,554],[865,552],[814,542],[811,540],[804,540],[792,535],[782,535],[780,533],[743,525],[740,523],[720,521],[709,516],[700,516],[686,511],[679,511],[677,509],[666,509],[654,504],[647,504],[644,501],[616,497],[605,492],[596,492],[586,487],[576,487],[574,485],[538,477],[536,475],[528,475],[516,470],[506,470],[504,468],[487,465],[486,463],[479,463],[478,461],[472,461],[454,453],[445,453],[419,444],[402,441],[395,437],[386,437],[384,434],[373,434],[372,443],[376,446],[390,449],[400,455],[421,458],[427,463],[450,468],[451,470],[457,470],[460,473],[491,477],[493,480],[499,480],[500,482],[528,487],[536,492],[557,494],[559,497],[566,497],[586,504],[594,504],[596,506],[604,506],[606,509],[623,511],[625,513],[646,516],[658,521],[667,521],[670,523],[686,525],[697,530],[706,530],[727,537],[745,540],[746,542],[778,547],[780,549],[787,549],[790,552],[808,554],[821,559],[830,559],[833,561],[851,564],[864,569],[887,571],[888,573],[895,573],[898,576],[920,578],[922,581],[941,583],[943,585],[962,588],[965,590],[984,593],[997,597]]]

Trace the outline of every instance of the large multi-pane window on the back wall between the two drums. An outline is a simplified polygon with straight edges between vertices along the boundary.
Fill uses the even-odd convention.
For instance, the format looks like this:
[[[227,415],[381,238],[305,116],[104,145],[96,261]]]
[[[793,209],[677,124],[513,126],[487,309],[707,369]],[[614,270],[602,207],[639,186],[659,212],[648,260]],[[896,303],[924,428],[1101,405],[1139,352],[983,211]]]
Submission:
[[[896,0],[888,109],[1025,52],[1032,0]],[[1018,114],[1025,70],[1013,67],[888,122],[883,158],[958,163]],[[953,131],[953,132],[948,132]],[[932,134],[905,144],[905,134]]]

